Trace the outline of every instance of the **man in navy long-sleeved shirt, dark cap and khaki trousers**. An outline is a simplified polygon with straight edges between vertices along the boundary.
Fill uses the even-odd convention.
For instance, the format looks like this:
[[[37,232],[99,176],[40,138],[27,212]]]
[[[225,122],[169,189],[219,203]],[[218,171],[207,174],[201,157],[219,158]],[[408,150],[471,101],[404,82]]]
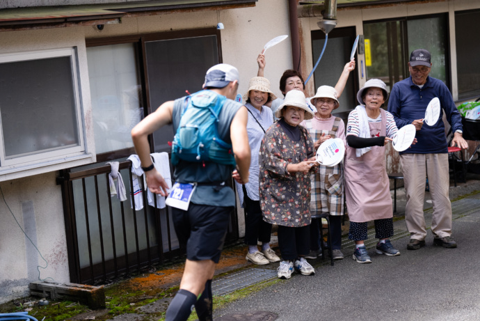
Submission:
[[[433,202],[431,230],[433,244],[446,248],[455,248],[456,242],[451,237],[451,203],[449,201],[449,165],[447,137],[442,115],[454,132],[451,146],[467,148],[462,137],[461,116],[454,104],[447,86],[433,77],[431,54],[426,49],[417,49],[410,54],[408,70],[410,77],[394,84],[388,111],[392,113],[401,128],[408,124],[417,129],[417,143],[400,153],[401,168],[405,182],[407,205],[405,221],[410,232],[407,249],[416,250],[425,245],[426,226],[424,219],[425,177],[429,178],[429,187]],[[440,100],[440,117],[433,126],[424,124],[426,107],[438,97]]]

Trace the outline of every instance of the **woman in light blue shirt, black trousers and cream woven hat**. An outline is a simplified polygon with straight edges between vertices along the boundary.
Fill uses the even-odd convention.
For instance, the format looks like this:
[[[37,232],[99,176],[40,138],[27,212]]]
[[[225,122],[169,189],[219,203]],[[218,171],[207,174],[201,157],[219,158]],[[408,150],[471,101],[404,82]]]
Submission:
[[[240,203],[246,212],[245,244],[248,246],[246,260],[257,265],[280,261],[275,251],[270,248],[272,225],[263,220],[258,191],[260,143],[266,130],[273,123],[273,113],[265,104],[274,99],[276,96],[270,90],[270,81],[264,77],[250,79],[248,91],[243,95],[248,111],[247,132],[252,160],[248,183],[240,185],[236,182],[236,185]],[[262,243],[261,251],[258,251],[258,242]]]

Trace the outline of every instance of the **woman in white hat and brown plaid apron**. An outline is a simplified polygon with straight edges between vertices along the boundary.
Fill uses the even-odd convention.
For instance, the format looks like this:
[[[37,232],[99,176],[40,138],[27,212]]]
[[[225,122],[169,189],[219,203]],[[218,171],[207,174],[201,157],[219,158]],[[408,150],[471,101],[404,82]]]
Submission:
[[[314,141],[315,149],[328,139],[345,140],[345,125],[342,118],[332,116],[332,111],[339,107],[335,88],[320,86],[317,94],[310,98],[310,103],[317,109],[312,120],[304,122]],[[318,173],[312,175],[312,213],[328,213],[330,220],[330,239],[334,260],[344,258],[342,251],[342,215],[344,214],[344,171],[342,163],[335,166],[319,166]],[[312,219],[310,225],[310,253],[307,258],[317,258],[319,246],[319,219]]]

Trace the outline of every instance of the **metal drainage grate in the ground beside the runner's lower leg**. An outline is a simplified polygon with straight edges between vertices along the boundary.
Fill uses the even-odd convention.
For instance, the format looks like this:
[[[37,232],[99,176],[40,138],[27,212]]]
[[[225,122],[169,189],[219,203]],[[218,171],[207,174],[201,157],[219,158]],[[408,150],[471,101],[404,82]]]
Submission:
[[[214,279],[211,283],[211,292],[214,295],[226,295],[235,290],[246,288],[258,282],[275,279],[276,277],[277,271],[275,269],[244,269],[243,271]]]

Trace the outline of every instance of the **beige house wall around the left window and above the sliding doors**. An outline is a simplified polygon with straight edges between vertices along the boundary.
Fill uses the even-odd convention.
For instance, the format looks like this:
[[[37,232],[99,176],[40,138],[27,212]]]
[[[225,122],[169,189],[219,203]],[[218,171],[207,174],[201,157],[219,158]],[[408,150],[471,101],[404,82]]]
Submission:
[[[284,21],[278,24],[278,21]],[[243,95],[248,81],[257,75],[256,58],[266,42],[276,36],[289,35],[287,1],[262,0],[254,8],[193,13],[175,13],[146,17],[129,17],[121,24],[106,24],[102,31],[95,26],[58,29],[0,32],[0,54],[39,49],[77,47],[82,106],[86,118],[89,150],[95,150],[91,129],[91,102],[88,82],[86,38],[104,38],[137,33],[178,31],[225,25],[221,31],[223,62],[235,65],[241,75],[239,93]],[[272,27],[274,26],[274,27]],[[271,80],[275,95],[282,97],[278,82],[282,72],[291,68],[291,44],[287,39],[266,54],[265,76]],[[187,76],[187,75],[186,75]],[[34,75],[33,75],[34,77]],[[65,224],[60,186],[56,185],[56,169],[49,173],[0,183],[6,203],[42,256],[47,269],[40,269],[40,278],[68,282]],[[0,200],[0,303],[28,295],[28,284],[38,280],[37,265],[45,266],[35,248]]]

